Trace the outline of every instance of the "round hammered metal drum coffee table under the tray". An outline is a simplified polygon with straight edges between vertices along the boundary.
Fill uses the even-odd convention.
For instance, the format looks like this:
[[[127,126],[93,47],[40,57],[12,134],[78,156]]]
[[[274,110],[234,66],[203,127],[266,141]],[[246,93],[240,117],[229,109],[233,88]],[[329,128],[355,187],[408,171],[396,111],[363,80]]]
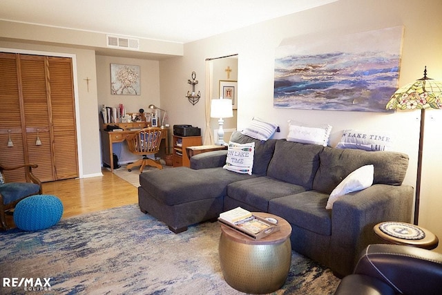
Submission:
[[[253,240],[221,224],[220,265],[224,280],[238,291],[250,294],[274,292],[284,285],[291,265],[291,226],[278,216],[253,212],[262,218],[276,218],[280,231]]]

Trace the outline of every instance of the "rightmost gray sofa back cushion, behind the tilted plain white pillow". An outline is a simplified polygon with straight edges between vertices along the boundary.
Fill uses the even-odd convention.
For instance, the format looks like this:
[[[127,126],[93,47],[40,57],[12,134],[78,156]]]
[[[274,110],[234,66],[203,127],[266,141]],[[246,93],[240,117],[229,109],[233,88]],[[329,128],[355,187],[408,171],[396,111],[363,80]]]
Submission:
[[[408,156],[392,151],[362,151],[325,147],[319,153],[320,166],[313,189],[332,193],[333,189],[354,170],[374,164],[374,184],[401,185],[408,166]]]

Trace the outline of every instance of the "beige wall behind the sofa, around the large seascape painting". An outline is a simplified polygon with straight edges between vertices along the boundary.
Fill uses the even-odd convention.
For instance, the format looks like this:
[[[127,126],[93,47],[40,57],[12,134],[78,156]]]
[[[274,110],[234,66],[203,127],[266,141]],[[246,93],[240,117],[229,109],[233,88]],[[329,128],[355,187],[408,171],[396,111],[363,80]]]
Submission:
[[[312,37],[348,35],[394,26],[404,26],[400,86],[423,76],[427,66],[429,76],[442,79],[442,2],[439,0],[340,0],[295,15],[235,30],[227,34],[195,41],[184,46],[184,57],[160,61],[162,105],[173,110],[171,124],[189,122],[204,126],[204,105],[191,106],[182,98],[186,93],[186,79],[192,70],[201,77],[204,59],[238,53],[238,129],[249,124],[253,116],[280,124],[276,137],[287,135],[287,120],[310,124],[327,123],[333,126],[330,144],[336,145],[343,129],[391,131],[395,134],[394,150],[410,156],[405,184],[416,182],[416,157],[419,142],[419,112],[362,113],[336,111],[301,111],[273,108],[273,70],[275,48],[286,38],[302,40]],[[420,17],[419,17],[420,16]],[[363,46],[363,44],[361,44]],[[171,88],[169,86],[173,85]],[[198,84],[204,93],[204,84]],[[175,107],[173,107],[175,106]],[[428,112],[430,113],[430,112]],[[431,111],[427,129],[438,129],[442,111]],[[440,128],[440,127],[439,127]],[[439,132],[440,133],[440,132]],[[425,133],[423,189],[419,224],[442,237],[442,160],[438,155],[442,144],[439,134]],[[442,251],[439,246],[438,251]]]

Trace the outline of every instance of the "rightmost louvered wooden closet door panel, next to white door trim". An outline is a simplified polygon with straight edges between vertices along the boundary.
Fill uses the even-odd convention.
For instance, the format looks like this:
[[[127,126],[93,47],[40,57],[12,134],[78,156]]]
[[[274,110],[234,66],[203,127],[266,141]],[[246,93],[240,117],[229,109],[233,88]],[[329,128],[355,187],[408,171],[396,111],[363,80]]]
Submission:
[[[72,59],[48,57],[56,180],[78,177]]]

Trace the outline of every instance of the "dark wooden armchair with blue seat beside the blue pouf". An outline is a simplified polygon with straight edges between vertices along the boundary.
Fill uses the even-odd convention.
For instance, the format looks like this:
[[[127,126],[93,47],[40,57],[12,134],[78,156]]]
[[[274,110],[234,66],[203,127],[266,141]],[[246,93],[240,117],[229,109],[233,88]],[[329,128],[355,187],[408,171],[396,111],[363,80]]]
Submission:
[[[26,197],[41,195],[41,182],[32,173],[32,168],[37,164],[23,164],[20,166],[3,166],[0,164],[0,221],[1,229],[8,229],[6,224],[6,211],[15,208],[15,205]],[[26,182],[8,182],[4,171],[24,169]]]

